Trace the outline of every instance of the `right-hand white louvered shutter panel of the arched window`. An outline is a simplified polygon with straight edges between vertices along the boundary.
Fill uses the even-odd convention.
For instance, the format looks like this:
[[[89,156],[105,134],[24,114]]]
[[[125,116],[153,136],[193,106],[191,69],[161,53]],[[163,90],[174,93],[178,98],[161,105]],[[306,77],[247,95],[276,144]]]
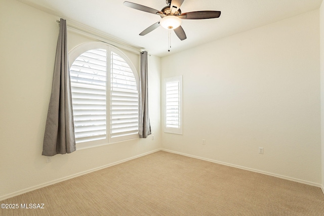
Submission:
[[[139,98],[134,73],[111,52],[111,138],[138,134]]]

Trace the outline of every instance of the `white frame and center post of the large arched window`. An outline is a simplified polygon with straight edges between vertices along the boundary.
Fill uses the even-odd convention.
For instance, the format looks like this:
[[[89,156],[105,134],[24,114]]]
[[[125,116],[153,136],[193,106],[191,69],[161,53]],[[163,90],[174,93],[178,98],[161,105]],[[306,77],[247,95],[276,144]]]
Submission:
[[[123,142],[130,139],[139,138],[139,134],[121,136],[121,137],[114,137],[111,138],[111,52],[117,54],[121,58],[123,58],[126,63],[131,68],[135,80],[136,80],[136,87],[138,92],[138,97],[140,94],[140,78],[138,72],[126,54],[120,51],[118,48],[106,44],[104,42],[86,42],[85,44],[78,45],[77,47],[73,48],[69,53],[69,69],[71,68],[73,62],[83,53],[94,50],[94,49],[105,49],[107,51],[107,86],[106,86],[106,138],[101,140],[94,140],[94,141],[85,141],[85,142],[78,142],[76,143],[77,149],[84,149],[84,148],[91,148],[96,146],[108,145],[117,142]],[[109,57],[108,57],[109,56]],[[138,104],[139,105],[139,104]]]

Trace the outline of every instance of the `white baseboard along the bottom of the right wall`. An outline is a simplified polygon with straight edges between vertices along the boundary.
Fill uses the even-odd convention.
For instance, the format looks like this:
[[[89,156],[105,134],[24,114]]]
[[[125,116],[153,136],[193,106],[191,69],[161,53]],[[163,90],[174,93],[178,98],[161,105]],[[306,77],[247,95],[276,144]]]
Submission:
[[[299,183],[303,183],[303,184],[307,184],[307,185],[311,185],[311,186],[320,187],[322,189],[323,193],[324,193],[324,186],[321,185],[321,184],[314,183],[314,182],[308,182],[308,181],[301,180],[301,179],[295,179],[295,178],[292,178],[292,177],[281,176],[281,175],[278,175],[278,174],[273,174],[271,172],[261,171],[261,170],[258,170],[258,169],[252,169],[252,168],[249,168],[249,167],[235,165],[235,164],[231,164],[231,163],[225,163],[225,162],[221,162],[221,161],[217,161],[217,160],[213,160],[213,159],[209,159],[209,158],[194,156],[194,155],[185,154],[185,153],[172,151],[172,150],[168,150],[168,149],[161,149],[161,150],[166,151],[166,152],[175,153],[175,154],[184,155],[184,156],[187,156],[187,157],[200,159],[200,160],[206,160],[206,161],[209,161],[209,162],[218,163],[218,164],[222,164],[222,165],[226,165],[226,166],[232,166],[232,167],[235,167],[235,168],[245,169],[245,170],[248,170],[248,171],[258,172],[260,174],[265,174],[265,175],[268,175],[268,176],[278,177],[280,179],[286,179],[286,180],[290,180],[290,181],[294,181],[294,182],[299,182]]]

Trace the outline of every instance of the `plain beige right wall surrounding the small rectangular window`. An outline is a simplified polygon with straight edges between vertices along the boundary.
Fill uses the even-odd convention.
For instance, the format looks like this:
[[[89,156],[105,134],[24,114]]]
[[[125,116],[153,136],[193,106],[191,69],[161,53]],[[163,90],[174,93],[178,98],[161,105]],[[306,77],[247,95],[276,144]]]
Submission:
[[[161,80],[183,75],[183,135],[164,149],[320,186],[319,10],[161,65]]]

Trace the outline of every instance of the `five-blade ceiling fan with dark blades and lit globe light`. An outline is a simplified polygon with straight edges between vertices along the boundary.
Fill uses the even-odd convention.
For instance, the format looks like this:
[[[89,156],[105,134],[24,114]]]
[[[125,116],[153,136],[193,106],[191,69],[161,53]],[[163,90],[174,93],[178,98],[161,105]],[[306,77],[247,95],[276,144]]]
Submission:
[[[153,25],[142,31],[140,33],[140,35],[142,36],[153,31],[155,28],[161,25],[166,29],[174,30],[176,35],[181,40],[184,40],[187,38],[187,36],[183,28],[181,27],[182,19],[212,19],[218,18],[221,15],[220,11],[194,11],[181,13],[180,6],[184,2],[184,0],[166,0],[166,2],[168,6],[164,7],[161,11],[131,2],[124,2],[124,5],[136,10],[159,15],[162,18],[157,23],[154,23]]]

